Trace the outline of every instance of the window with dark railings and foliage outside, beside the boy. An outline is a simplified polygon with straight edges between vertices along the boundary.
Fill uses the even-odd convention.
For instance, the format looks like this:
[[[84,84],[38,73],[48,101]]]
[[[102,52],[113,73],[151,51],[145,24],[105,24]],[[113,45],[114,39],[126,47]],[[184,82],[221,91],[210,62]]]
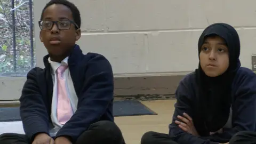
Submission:
[[[31,0],[0,0],[0,78],[26,76],[35,67]]]

